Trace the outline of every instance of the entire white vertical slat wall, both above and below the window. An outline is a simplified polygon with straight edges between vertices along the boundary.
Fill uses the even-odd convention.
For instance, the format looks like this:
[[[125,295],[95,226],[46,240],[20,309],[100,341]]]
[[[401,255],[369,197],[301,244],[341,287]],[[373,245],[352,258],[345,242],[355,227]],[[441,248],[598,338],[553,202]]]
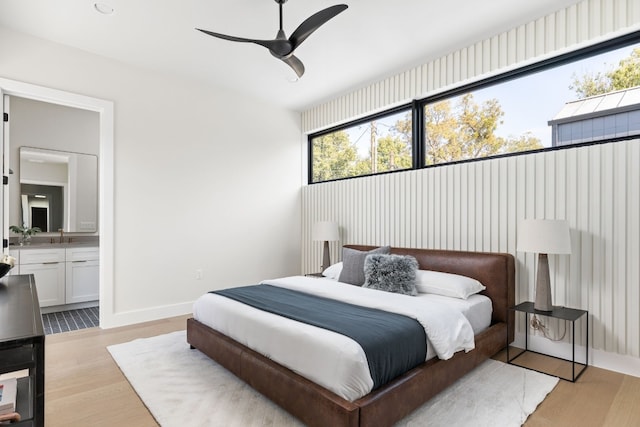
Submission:
[[[637,0],[585,0],[302,114],[325,129],[640,28]],[[524,218],[567,219],[573,253],[550,256],[554,303],[590,312],[595,349],[640,357],[640,140],[519,155],[302,189],[302,269],[319,271],[315,221],[346,243],[497,251],[517,257],[516,301],[533,298],[535,255],[516,252]]]

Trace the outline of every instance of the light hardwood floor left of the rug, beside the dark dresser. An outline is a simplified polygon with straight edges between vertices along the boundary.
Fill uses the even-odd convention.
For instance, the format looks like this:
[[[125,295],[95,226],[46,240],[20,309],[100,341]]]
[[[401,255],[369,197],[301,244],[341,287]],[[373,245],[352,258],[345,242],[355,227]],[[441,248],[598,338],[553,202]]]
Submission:
[[[188,316],[45,338],[47,427],[157,426],[107,346],[186,328]]]

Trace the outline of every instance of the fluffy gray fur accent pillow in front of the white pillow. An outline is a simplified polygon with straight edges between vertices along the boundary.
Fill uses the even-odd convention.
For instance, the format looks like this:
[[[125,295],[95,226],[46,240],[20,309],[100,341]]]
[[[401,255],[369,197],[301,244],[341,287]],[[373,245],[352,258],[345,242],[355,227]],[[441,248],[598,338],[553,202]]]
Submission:
[[[417,270],[418,261],[410,255],[367,255],[362,287],[416,296]]]

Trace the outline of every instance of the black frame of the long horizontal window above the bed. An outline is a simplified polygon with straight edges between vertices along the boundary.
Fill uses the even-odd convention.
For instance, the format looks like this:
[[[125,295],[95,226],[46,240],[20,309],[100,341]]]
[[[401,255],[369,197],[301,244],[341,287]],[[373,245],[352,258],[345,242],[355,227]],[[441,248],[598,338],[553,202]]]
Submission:
[[[570,144],[570,145],[544,147],[544,148],[535,149],[535,150],[497,154],[497,155],[481,157],[481,158],[456,160],[452,162],[438,163],[433,165],[426,165],[426,161],[425,161],[426,159],[425,159],[425,140],[424,140],[424,129],[425,129],[424,108],[426,105],[444,101],[446,99],[455,98],[457,96],[464,95],[466,93],[470,93],[475,90],[487,88],[490,86],[495,86],[501,83],[506,83],[511,80],[526,77],[527,75],[542,72],[544,70],[559,67],[562,65],[570,64],[572,62],[577,62],[577,61],[580,61],[581,59],[597,56],[599,54],[603,54],[616,49],[621,49],[626,46],[630,46],[637,43],[640,43],[640,30],[637,30],[622,36],[618,36],[610,40],[605,40],[605,41],[593,44],[591,46],[586,46],[586,47],[572,50],[570,52],[562,53],[551,58],[534,62],[532,64],[524,65],[522,67],[518,67],[513,70],[509,70],[509,71],[497,74],[495,76],[481,78],[475,82],[463,84],[432,96],[415,99],[409,103],[405,103],[390,109],[386,109],[386,110],[377,112],[375,114],[367,115],[359,119],[352,120],[337,126],[333,126],[331,128],[328,128],[319,132],[311,133],[307,136],[307,153],[308,153],[307,184],[308,185],[322,184],[326,182],[342,181],[345,179],[371,177],[371,176],[384,175],[389,173],[407,172],[410,170],[417,170],[417,169],[449,166],[449,165],[468,163],[468,162],[478,162],[478,161],[485,161],[485,160],[491,160],[491,159],[499,159],[504,157],[521,156],[521,155],[527,155],[527,154],[547,152],[547,151],[565,150],[568,148],[576,148],[576,147],[583,147],[583,146],[589,146],[589,145],[608,144],[608,143],[623,141],[627,139],[637,139],[638,135],[607,138],[607,139],[598,140],[598,141],[589,141],[589,142],[582,142],[582,143]],[[413,143],[412,143],[412,167],[410,169],[384,171],[384,172],[378,172],[378,173],[371,173],[371,174],[365,174],[365,175],[357,175],[352,177],[336,178],[336,179],[331,179],[326,181],[313,182],[313,143],[312,141],[314,138],[322,137],[333,132],[346,130],[348,128],[358,126],[363,123],[371,122],[383,117],[387,117],[389,115],[397,114],[402,111],[410,111],[411,118],[412,118]]]

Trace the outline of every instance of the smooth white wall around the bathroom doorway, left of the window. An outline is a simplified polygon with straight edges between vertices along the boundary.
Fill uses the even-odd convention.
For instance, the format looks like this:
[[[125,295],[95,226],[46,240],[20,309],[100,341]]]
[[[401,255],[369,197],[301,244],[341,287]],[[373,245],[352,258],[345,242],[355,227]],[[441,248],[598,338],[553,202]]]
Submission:
[[[0,52],[0,77],[113,101],[103,326],[187,313],[208,290],[299,272],[298,113],[5,28]]]

